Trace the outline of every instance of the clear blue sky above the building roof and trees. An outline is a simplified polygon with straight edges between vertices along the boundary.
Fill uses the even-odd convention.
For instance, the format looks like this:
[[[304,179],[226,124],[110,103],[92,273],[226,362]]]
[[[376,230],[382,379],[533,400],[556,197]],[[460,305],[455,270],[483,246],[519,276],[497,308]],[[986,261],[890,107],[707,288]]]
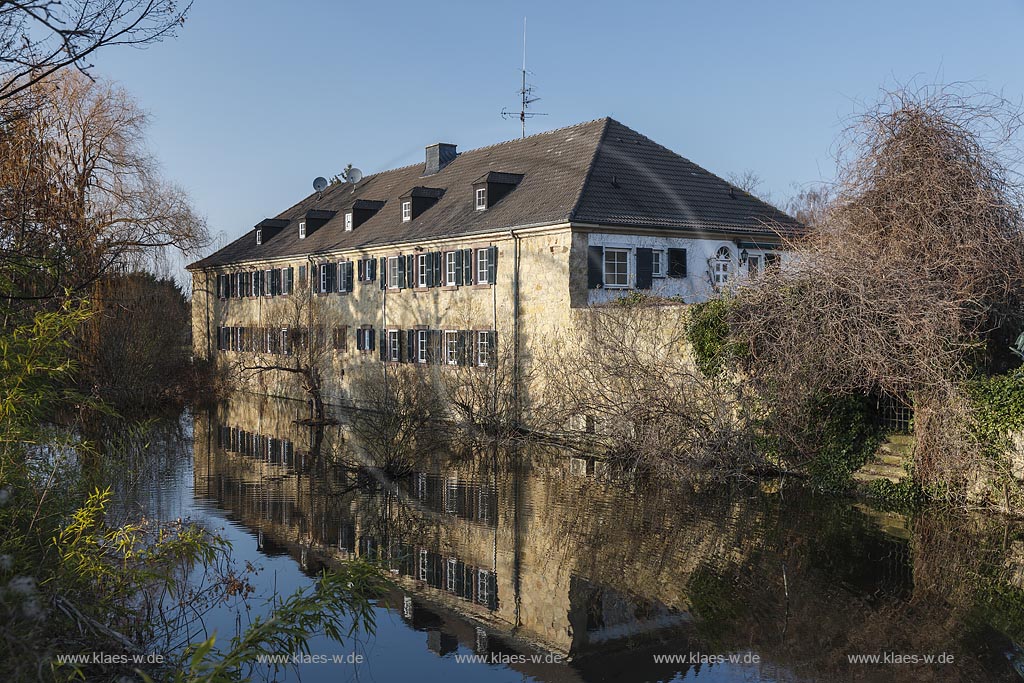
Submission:
[[[1024,0],[229,2],[96,73],[153,118],[151,146],[220,244],[348,163],[519,135],[522,18],[543,99],[527,133],[611,116],[775,201],[828,179],[844,120],[883,86],[971,81],[1024,95]]]

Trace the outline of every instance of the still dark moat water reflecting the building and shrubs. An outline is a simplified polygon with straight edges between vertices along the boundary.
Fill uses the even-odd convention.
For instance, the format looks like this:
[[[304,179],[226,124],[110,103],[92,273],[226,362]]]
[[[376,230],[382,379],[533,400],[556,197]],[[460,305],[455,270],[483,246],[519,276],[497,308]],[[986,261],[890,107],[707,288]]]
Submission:
[[[117,489],[122,511],[198,521],[251,564],[249,607],[205,613],[193,641],[228,640],[346,558],[385,565],[375,633],[314,638],[328,663],[254,680],[1024,678],[1020,523],[638,481],[550,449],[425,455],[304,411],[240,397],[155,424]]]

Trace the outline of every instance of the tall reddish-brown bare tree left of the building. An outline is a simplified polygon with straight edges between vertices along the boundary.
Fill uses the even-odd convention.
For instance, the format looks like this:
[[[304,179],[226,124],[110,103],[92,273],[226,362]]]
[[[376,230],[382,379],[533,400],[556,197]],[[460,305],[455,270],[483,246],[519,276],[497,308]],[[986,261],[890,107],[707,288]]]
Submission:
[[[0,129],[0,268],[8,300],[87,291],[208,241],[206,221],[144,147],[146,117],[109,83],[65,72]]]

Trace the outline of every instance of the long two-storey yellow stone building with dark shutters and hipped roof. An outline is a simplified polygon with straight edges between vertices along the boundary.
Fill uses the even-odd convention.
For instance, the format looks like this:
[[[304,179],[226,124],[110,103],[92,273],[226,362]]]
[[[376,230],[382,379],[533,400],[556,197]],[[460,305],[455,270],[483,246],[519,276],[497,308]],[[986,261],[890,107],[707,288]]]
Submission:
[[[799,228],[613,119],[436,143],[190,264],[194,351],[228,364],[324,348],[327,397],[357,403],[360,368],[486,369],[500,348],[527,362],[573,311],[635,293],[705,300],[772,267]]]

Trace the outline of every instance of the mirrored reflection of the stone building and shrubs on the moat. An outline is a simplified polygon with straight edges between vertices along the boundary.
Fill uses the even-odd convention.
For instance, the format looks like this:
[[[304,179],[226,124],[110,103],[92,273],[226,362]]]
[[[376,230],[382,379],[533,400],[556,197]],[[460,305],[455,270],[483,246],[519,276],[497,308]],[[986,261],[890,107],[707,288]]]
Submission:
[[[407,591],[389,604],[439,655],[540,649],[574,659],[568,673],[520,668],[542,680],[667,680],[688,666],[652,652],[754,648],[782,680],[801,678],[793,667],[842,680],[854,644],[942,651],[965,637],[949,607],[914,606],[930,590],[915,572],[939,579],[911,535],[845,504],[640,486],[557,454],[425,460],[391,483],[373,462],[338,466],[351,435],[297,427],[301,413],[240,402],[199,416],[197,493],[310,569],[382,558]],[[944,677],[1005,667],[974,650]],[[899,680],[932,680],[919,674]]]

